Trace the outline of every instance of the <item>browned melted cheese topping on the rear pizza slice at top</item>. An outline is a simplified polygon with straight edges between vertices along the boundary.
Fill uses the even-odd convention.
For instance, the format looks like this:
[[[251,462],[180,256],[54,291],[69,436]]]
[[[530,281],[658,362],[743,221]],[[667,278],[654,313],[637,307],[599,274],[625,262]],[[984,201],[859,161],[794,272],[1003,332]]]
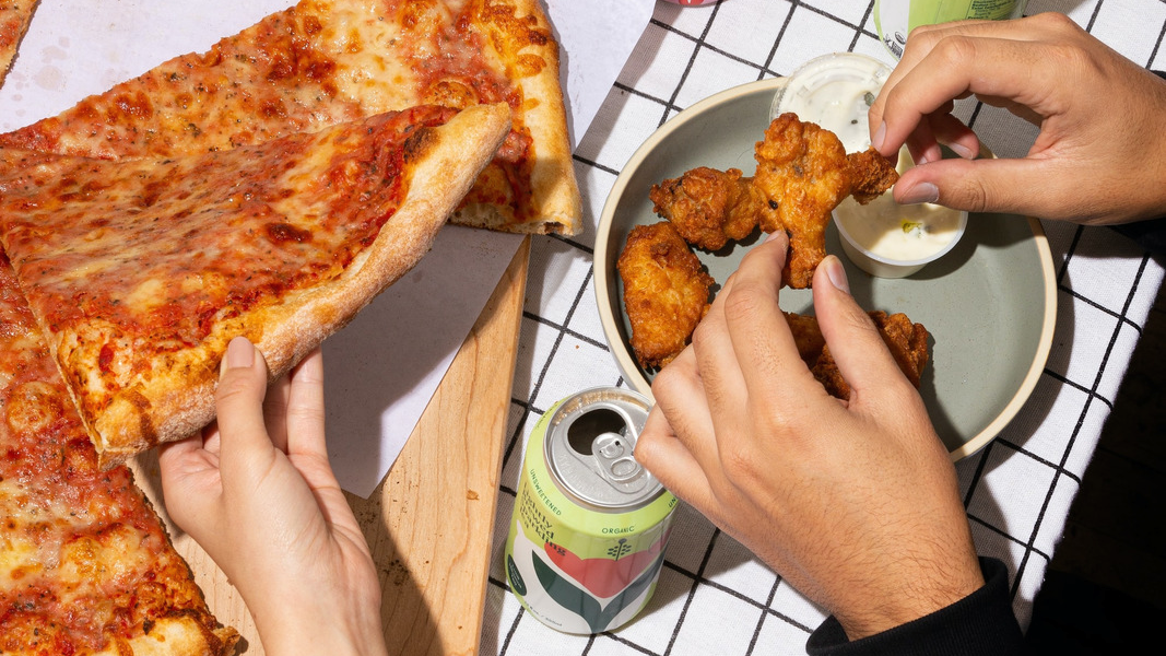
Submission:
[[[465,100],[475,104],[507,100],[514,85],[494,47],[517,54],[549,40],[535,21],[513,18],[511,5],[303,0],[0,141],[170,156],[403,110],[443,83],[472,90]],[[496,29],[506,20],[517,35]]]

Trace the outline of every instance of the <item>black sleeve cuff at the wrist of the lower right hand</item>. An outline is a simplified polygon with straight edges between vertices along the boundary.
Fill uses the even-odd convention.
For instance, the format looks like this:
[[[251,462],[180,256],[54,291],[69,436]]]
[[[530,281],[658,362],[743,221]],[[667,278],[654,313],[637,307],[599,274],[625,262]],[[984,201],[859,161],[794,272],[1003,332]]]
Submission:
[[[810,656],[962,656],[1020,654],[1020,626],[1009,600],[1009,571],[995,558],[981,558],[984,587],[940,608],[930,615],[850,642],[842,624],[833,616],[810,634],[806,652]]]

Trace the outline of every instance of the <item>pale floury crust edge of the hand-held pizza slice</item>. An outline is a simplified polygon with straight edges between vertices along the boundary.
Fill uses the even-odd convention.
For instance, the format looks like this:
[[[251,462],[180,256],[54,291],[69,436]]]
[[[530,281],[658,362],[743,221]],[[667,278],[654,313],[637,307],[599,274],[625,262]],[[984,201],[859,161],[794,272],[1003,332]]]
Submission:
[[[429,251],[506,135],[508,117],[505,105],[477,105],[435,128],[427,156],[412,172],[405,202],[343,273],[321,286],[294,291],[279,305],[220,322],[201,344],[176,354],[175,362],[150,382],[148,393],[135,389],[119,393],[89,426],[101,466],[185,438],[210,423],[219,360],[233,337],[246,336],[260,349],[274,381],[343,328]]]

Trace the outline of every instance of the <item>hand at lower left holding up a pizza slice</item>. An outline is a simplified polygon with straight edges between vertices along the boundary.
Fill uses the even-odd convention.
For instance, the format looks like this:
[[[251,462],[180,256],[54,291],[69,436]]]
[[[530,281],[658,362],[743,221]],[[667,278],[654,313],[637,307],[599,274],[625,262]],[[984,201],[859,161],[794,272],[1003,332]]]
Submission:
[[[377,570],[328,462],[323,372],[317,349],[267,390],[262,354],[232,340],[217,427],[161,449],[166,507],[239,588],[268,654],[385,654]]]

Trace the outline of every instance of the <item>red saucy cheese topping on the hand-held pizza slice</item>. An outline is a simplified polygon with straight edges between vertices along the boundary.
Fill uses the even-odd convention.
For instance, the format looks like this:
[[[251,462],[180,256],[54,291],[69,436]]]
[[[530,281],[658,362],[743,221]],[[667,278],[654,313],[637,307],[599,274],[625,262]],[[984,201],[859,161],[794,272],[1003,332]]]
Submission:
[[[26,293],[47,330],[100,319],[150,350],[189,347],[212,319],[347,266],[403,197],[410,144],[455,113],[417,107],[162,162],[0,151],[0,242],[36,280]],[[338,147],[315,162],[325,140]],[[324,176],[303,180],[316,167]]]

